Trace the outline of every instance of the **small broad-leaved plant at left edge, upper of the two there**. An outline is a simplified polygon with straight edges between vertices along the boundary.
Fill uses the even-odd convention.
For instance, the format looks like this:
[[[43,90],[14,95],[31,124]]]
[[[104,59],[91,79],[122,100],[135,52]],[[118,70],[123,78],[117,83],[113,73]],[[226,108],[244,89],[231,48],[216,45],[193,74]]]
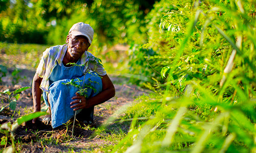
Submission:
[[[22,87],[22,88],[14,90],[14,91],[10,91],[9,89],[6,89],[5,91],[0,92],[1,101],[3,101],[3,99],[5,99],[8,102],[8,104],[6,106],[3,106],[1,108],[0,112],[3,111],[4,108],[6,108],[7,106],[9,106],[9,108],[11,110],[15,110],[17,100],[19,99],[19,95],[20,95],[19,93],[22,91],[25,91],[29,88],[31,88],[31,87]]]

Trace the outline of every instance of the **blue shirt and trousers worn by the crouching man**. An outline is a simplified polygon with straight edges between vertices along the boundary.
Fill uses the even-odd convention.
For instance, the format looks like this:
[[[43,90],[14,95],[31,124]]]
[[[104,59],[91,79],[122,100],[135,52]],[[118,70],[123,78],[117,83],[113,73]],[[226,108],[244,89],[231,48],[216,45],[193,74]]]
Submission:
[[[74,81],[82,80],[82,82],[76,84],[83,88],[85,88],[84,85],[91,85],[96,89],[96,92],[94,92],[93,89],[88,88],[87,97],[95,96],[102,90],[101,78],[97,73],[90,72],[83,75],[78,66],[65,67],[63,64],[61,66],[57,65],[50,76],[49,93],[44,92],[43,94],[46,104],[48,101],[51,106],[53,128],[65,124],[75,115],[75,111],[70,108],[70,103],[73,101],[72,97],[75,96],[78,89],[72,85],[63,85],[63,83],[70,82],[71,79],[74,79]],[[77,113],[80,111],[78,110]]]

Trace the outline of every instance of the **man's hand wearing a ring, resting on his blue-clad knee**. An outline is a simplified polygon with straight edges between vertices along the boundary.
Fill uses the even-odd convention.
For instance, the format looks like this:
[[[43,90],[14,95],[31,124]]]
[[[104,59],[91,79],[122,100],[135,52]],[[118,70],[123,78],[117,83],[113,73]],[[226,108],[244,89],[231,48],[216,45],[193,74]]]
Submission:
[[[87,100],[86,97],[80,96],[79,93],[76,93],[74,97],[72,97],[73,101],[71,101],[70,105],[72,105],[70,108],[74,108],[74,111],[77,111],[79,109],[84,109],[87,107]],[[75,100],[74,100],[75,99]]]

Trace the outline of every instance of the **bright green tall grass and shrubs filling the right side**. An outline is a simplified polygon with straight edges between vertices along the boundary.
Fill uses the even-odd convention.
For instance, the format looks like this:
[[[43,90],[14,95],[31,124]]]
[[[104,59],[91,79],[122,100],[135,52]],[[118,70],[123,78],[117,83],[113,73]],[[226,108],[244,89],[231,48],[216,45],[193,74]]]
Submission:
[[[144,45],[165,82],[119,117],[131,127],[112,151],[256,152],[255,2],[173,6]]]

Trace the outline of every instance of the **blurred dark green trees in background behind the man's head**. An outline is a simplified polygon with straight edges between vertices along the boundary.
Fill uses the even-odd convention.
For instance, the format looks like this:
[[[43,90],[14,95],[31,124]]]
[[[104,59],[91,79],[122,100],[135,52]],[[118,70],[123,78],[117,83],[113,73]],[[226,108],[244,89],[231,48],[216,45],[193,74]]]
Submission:
[[[62,44],[70,27],[78,21],[92,25],[96,32],[94,40],[100,44],[138,41],[137,38],[143,41],[146,29],[141,25],[155,2],[3,1],[0,36],[4,37],[0,41]]]

